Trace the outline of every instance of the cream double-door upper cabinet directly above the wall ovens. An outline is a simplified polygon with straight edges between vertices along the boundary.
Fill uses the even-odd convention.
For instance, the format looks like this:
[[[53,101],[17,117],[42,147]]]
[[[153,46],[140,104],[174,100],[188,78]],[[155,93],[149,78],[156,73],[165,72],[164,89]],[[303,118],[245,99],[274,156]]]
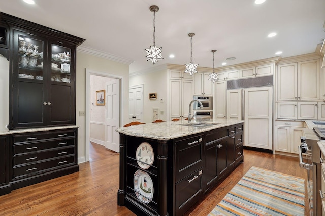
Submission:
[[[212,96],[213,82],[209,80],[209,73],[194,73],[193,95]]]

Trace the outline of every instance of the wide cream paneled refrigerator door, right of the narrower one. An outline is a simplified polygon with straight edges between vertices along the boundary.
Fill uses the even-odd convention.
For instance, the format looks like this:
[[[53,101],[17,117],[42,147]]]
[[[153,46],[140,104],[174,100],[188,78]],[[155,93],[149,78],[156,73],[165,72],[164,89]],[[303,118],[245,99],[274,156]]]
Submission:
[[[245,146],[272,150],[272,87],[245,89]]]

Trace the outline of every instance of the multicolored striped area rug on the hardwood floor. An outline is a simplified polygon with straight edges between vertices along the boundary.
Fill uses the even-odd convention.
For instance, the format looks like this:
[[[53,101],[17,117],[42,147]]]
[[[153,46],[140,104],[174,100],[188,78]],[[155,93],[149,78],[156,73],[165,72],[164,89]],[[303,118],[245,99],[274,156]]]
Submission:
[[[304,215],[304,179],[251,167],[209,216]]]

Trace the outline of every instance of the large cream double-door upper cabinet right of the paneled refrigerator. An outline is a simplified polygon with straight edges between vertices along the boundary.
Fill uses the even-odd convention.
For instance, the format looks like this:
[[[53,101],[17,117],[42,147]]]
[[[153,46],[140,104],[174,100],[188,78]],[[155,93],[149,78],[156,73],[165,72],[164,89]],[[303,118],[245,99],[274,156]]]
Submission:
[[[278,65],[277,101],[320,99],[319,59]]]

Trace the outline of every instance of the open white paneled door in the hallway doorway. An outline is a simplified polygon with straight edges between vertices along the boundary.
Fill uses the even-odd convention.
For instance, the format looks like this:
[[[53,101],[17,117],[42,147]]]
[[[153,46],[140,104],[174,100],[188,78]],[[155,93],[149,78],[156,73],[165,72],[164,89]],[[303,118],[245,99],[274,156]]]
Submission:
[[[119,79],[112,79],[106,82],[106,140],[105,147],[115,152],[119,152],[119,127],[120,110],[120,86]]]

